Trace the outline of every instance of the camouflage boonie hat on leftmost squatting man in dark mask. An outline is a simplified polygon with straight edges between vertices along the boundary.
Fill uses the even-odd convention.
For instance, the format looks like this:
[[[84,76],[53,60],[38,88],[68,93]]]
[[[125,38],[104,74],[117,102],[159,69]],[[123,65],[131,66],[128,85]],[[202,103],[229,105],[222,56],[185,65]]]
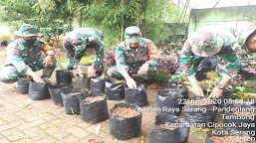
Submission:
[[[20,37],[32,37],[37,36],[41,37],[41,33],[37,33],[36,27],[29,24],[24,24],[20,27],[19,31],[14,32],[15,35]]]

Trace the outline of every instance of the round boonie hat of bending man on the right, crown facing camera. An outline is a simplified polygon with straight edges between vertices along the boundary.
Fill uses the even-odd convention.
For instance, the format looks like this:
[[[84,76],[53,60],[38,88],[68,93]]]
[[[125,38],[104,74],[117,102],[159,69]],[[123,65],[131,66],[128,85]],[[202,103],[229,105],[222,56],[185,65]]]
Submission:
[[[192,37],[191,50],[199,57],[209,57],[217,54],[224,44],[224,40],[211,32],[199,33]]]

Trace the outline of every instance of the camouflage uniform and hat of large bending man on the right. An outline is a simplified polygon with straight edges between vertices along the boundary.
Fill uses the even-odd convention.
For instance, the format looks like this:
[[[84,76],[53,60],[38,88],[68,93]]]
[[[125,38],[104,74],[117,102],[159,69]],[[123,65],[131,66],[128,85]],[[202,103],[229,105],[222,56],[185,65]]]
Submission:
[[[216,55],[218,75],[232,78],[239,70],[239,47],[234,30],[218,24],[208,24],[197,29],[184,43],[180,55],[180,66],[175,74],[184,77],[195,74],[203,57]],[[177,82],[173,75],[171,80]]]

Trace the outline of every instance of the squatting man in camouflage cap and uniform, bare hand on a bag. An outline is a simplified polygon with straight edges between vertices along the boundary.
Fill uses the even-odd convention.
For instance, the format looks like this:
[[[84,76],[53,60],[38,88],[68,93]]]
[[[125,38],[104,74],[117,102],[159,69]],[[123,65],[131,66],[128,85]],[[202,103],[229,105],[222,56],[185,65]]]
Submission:
[[[149,74],[156,70],[160,55],[152,41],[141,38],[138,27],[128,27],[125,31],[126,41],[116,48],[117,66],[108,70],[108,74],[125,77],[129,88],[136,88],[130,74],[138,74],[138,87],[143,87]]]

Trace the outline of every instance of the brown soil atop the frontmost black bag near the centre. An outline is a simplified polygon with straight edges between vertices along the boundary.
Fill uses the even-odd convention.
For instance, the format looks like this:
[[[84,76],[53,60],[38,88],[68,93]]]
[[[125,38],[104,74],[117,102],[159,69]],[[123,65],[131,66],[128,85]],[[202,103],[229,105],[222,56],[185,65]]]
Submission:
[[[116,115],[125,116],[127,118],[131,118],[139,115],[139,111],[136,111],[129,107],[117,107],[112,112],[115,113]]]

